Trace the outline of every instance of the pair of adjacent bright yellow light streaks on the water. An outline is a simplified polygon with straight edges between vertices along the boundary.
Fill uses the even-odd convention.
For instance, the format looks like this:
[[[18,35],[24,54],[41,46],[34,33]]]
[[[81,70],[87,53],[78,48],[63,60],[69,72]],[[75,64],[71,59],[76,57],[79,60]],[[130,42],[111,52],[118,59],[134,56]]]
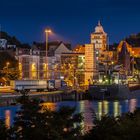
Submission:
[[[109,114],[109,102],[98,102],[97,119],[101,119],[102,116]]]

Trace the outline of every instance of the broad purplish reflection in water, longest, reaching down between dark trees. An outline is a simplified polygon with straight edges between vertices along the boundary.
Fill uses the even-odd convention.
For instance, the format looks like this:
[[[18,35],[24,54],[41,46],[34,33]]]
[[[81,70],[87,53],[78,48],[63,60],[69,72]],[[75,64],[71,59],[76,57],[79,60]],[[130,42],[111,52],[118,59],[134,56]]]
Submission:
[[[90,101],[79,102],[79,112],[81,112],[84,117],[82,126],[83,126],[83,133],[85,133],[93,127],[94,111],[92,109],[92,102]]]

